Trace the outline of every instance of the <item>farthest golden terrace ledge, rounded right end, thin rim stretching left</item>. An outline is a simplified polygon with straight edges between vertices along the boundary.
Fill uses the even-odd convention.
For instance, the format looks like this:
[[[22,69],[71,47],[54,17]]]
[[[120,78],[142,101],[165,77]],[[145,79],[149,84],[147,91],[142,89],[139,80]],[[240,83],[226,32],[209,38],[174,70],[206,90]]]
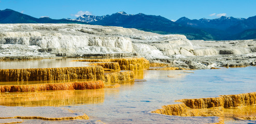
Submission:
[[[149,61],[146,58],[79,59],[75,61],[117,62],[121,70],[144,70],[149,68]]]

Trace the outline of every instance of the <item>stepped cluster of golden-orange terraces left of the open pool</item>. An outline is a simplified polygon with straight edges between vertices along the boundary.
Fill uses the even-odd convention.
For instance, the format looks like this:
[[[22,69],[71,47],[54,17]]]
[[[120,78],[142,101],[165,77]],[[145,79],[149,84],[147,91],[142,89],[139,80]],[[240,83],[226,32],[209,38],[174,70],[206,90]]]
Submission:
[[[27,85],[0,85],[1,92],[31,92],[45,90],[84,90],[110,87],[114,83],[134,81],[133,71],[143,70],[149,67],[149,61],[145,58],[120,58],[120,59],[83,59],[77,61],[104,62],[91,63],[91,67],[67,67],[67,68],[32,68],[32,69],[0,69],[0,81],[49,81],[91,79],[99,81],[91,82],[67,82],[67,83],[40,83]],[[107,63],[106,63],[107,62]],[[95,66],[96,65],[96,66]],[[120,69],[121,67],[121,69]],[[115,72],[105,73],[104,70]],[[102,81],[100,81],[102,80]]]

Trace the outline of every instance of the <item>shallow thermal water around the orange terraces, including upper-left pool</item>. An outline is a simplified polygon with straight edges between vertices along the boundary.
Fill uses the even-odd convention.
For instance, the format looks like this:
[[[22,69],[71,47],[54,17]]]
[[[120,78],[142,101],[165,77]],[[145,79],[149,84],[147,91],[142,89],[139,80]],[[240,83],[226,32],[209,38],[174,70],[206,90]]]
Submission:
[[[44,64],[38,64],[41,63],[39,60],[1,61],[0,65],[1,69],[10,69],[10,67],[15,69],[33,68],[33,65],[35,65],[35,68],[64,68],[88,66],[89,64],[71,60],[74,60],[74,58],[42,59],[42,61],[45,61]],[[32,116],[36,111],[39,112],[39,115],[43,113],[41,115],[46,117],[60,118],[74,116],[68,113],[72,111],[77,114],[76,116],[82,116],[83,113],[87,114],[89,120],[62,120],[61,122],[90,123],[101,120],[105,123],[214,123],[219,121],[219,117],[181,117],[151,112],[162,108],[163,105],[180,104],[175,100],[216,98],[219,95],[254,92],[256,89],[255,72],[256,67],[188,71],[144,70],[135,71],[134,75],[132,74],[137,79],[135,82],[122,82],[120,87],[114,88],[70,90],[61,93],[58,93],[60,91],[51,91],[39,92],[38,94],[33,94],[33,92],[5,92],[1,93],[0,97],[0,117]],[[117,73],[117,75],[119,74]],[[118,79],[118,76],[116,78]],[[1,85],[3,85],[3,82],[1,82]],[[12,95],[11,98],[10,95]],[[0,118],[0,122],[3,120],[5,119]],[[59,123],[60,121],[24,119],[23,122]],[[224,119],[224,122],[255,123],[256,121],[229,118]]]

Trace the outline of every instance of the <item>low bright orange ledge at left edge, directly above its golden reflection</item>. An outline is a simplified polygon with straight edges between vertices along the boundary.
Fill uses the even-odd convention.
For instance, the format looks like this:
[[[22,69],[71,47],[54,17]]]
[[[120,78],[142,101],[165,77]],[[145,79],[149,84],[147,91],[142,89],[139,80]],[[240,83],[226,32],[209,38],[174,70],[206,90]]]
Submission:
[[[102,81],[90,82],[68,82],[68,83],[54,83],[54,84],[31,84],[31,85],[2,85],[1,92],[30,92],[30,91],[44,91],[44,90],[84,90],[84,89],[98,89],[104,88]]]

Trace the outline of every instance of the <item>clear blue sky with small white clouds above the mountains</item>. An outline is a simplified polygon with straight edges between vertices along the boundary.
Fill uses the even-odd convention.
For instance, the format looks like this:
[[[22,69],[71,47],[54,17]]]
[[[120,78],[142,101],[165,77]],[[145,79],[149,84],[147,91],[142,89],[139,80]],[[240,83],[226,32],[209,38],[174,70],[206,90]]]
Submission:
[[[106,15],[119,11],[128,14],[161,15],[169,20],[214,19],[221,15],[248,18],[256,15],[255,0],[0,0],[0,10],[13,9],[35,18],[71,18],[88,13]],[[211,14],[211,16],[210,16]]]

